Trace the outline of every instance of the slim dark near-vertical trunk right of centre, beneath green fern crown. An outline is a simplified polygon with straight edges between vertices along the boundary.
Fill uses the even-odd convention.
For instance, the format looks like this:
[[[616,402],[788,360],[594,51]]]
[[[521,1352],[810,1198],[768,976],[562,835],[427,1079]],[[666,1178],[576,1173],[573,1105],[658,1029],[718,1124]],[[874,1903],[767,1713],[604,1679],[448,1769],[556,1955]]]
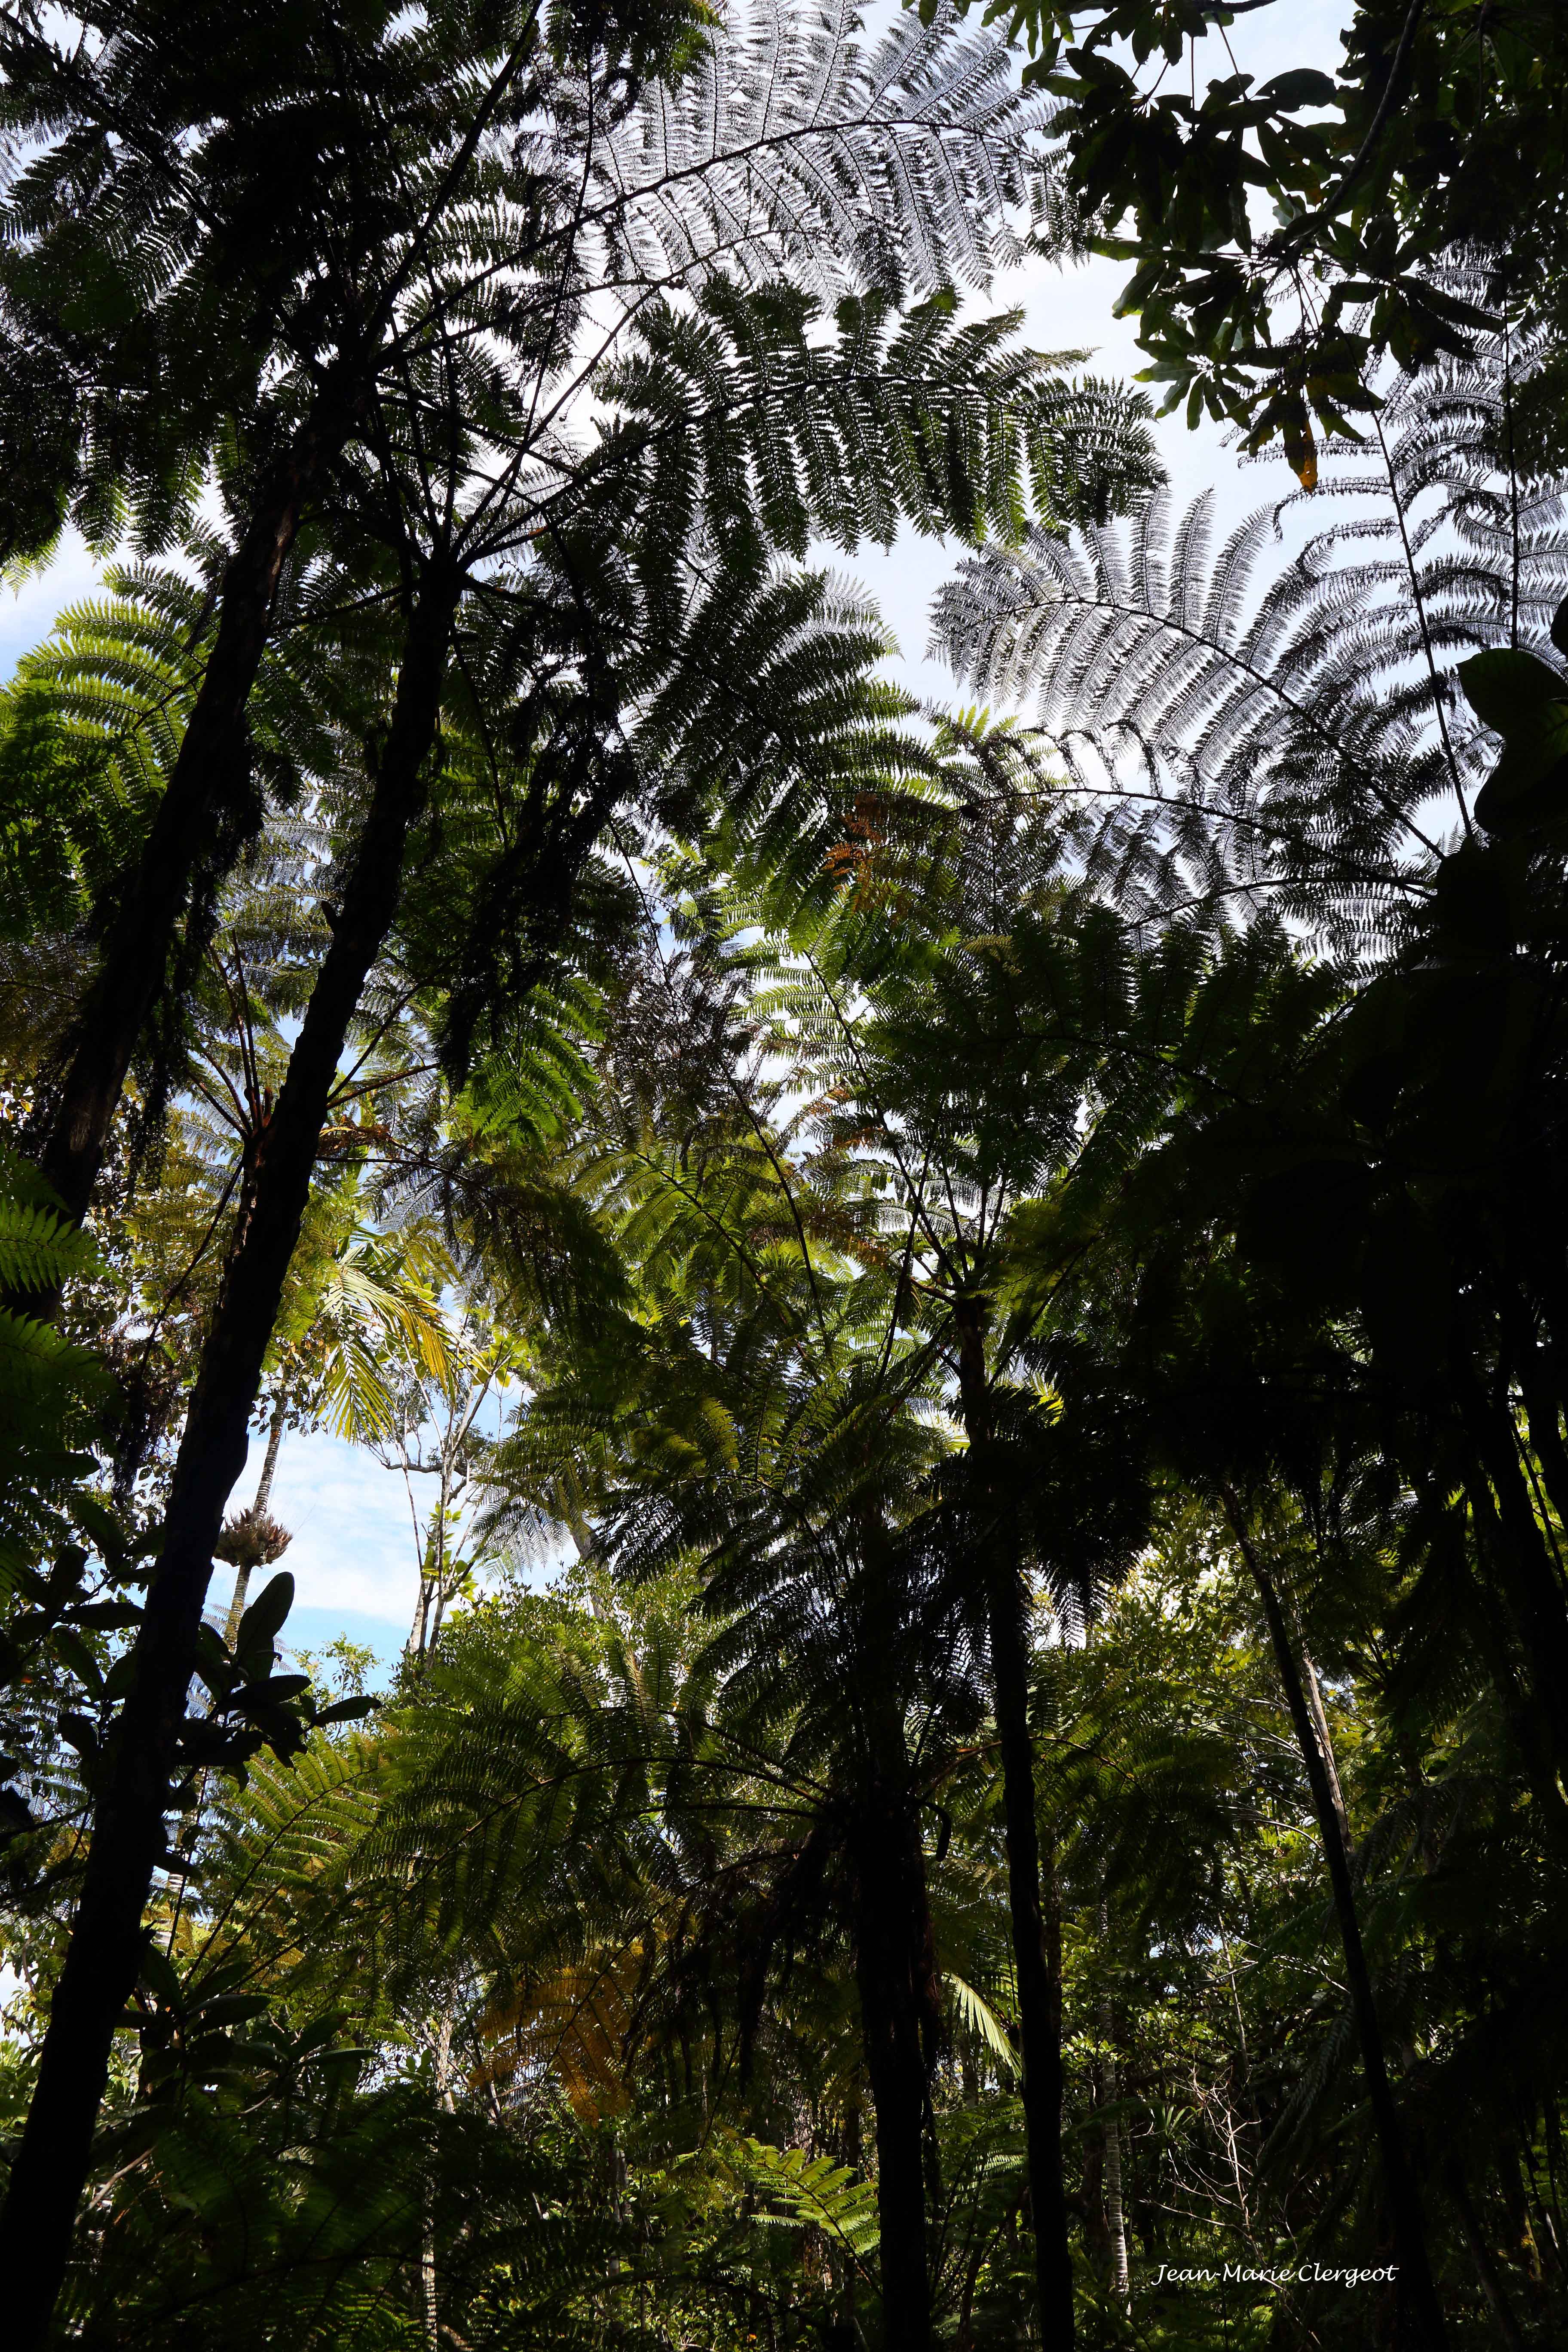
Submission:
[[[992,1477],[990,1458],[990,1388],[985,1378],[980,1308],[973,1301],[959,1301],[954,1322],[959,1331],[959,1404],[969,1449],[976,1458],[976,1484],[997,1505],[994,1486],[999,1479]],[[1001,1519],[1001,1510],[994,1510],[994,1517]],[[1034,2225],[1039,2331],[1046,2352],[1070,2352],[1074,2314],[1067,2180],[1063,2173],[1063,1983],[1060,1966],[1053,1964],[1041,1903],[1034,1748],[1030,1743],[1030,1644],[1025,1635],[1023,1585],[1011,1545],[1001,1541],[1001,1526],[987,1529],[985,1604],[992,1705],[997,1712],[997,1745],[1001,1750],[1006,1889],[1013,1926],[1013,1976],[1018,1985],[1023,2124],[1030,2171],[1030,2218]]]

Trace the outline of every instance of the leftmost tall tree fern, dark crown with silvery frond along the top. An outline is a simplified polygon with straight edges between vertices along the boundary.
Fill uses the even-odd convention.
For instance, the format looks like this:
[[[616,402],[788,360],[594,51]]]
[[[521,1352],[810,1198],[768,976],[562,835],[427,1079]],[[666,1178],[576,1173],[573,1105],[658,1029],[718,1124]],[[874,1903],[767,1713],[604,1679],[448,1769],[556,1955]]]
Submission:
[[[181,7],[89,14],[73,47],[7,16],[5,301],[56,395],[7,419],[28,456],[40,430],[59,442],[14,553],[66,510],[108,536],[125,496],[143,536],[167,536],[209,461],[233,517],[179,757],[99,910],[103,953],[35,1112],[73,1218],[146,1021],[167,985],[179,997],[181,931],[200,953],[212,889],[263,816],[247,703],[287,567],[341,510],[357,452],[383,447],[409,372],[456,369],[449,390],[482,407],[498,362],[505,480],[559,506],[588,461],[562,414],[661,289],[792,261],[832,292],[933,292],[1013,249],[1001,207],[1037,186],[1034,115],[999,45],[898,31],[863,54],[849,24],[764,12],[715,35],[672,103],[698,28],[684,9],[545,28],[494,0],[418,24],[261,9],[214,52]],[[125,254],[158,266],[127,273]]]

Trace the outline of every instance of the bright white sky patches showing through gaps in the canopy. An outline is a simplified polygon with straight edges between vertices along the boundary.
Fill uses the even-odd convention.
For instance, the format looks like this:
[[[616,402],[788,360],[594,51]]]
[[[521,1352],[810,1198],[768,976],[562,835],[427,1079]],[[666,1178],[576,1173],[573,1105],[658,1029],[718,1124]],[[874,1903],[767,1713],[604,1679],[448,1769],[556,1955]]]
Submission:
[[[1288,66],[1319,66],[1333,73],[1340,64],[1340,0],[1295,0],[1265,9],[1232,26],[1229,42],[1244,71],[1267,80]],[[1208,42],[1218,49],[1215,42]],[[1215,54],[1199,56],[1199,89],[1211,75],[1229,71]],[[1133,376],[1145,365],[1131,320],[1112,318],[1112,303],[1126,278],[1121,263],[1091,261],[1063,270],[1034,261],[1011,270],[994,285],[994,306],[1025,310],[1025,341],[1039,350],[1093,350],[1088,362],[1103,376]],[[1213,426],[1187,433],[1180,416],[1159,426],[1159,445],[1178,501],[1213,487],[1220,501],[1220,524],[1291,492],[1293,477],[1281,459],[1241,470]],[[846,560],[830,550],[832,569],[858,576],[877,597],[900,642],[893,666],[910,689],[924,699],[952,699],[952,677],[924,659],[926,614],[933,590],[957,562],[954,548],[903,534],[891,553],[863,548]],[[14,593],[0,593],[0,677],[16,656],[47,637],[54,616],[92,595],[99,572],[80,541],[71,539],[54,564]],[[261,1444],[252,1442],[252,1465],[235,1491],[235,1505],[249,1501],[261,1468]],[[402,1479],[324,1432],[289,1435],[282,1442],[273,1484],[273,1515],[294,1531],[287,1566],[294,1571],[299,1599],[289,1618],[296,1644],[320,1646],[336,1632],[367,1642],[390,1663],[407,1637],[418,1592],[418,1569],[409,1508]]]

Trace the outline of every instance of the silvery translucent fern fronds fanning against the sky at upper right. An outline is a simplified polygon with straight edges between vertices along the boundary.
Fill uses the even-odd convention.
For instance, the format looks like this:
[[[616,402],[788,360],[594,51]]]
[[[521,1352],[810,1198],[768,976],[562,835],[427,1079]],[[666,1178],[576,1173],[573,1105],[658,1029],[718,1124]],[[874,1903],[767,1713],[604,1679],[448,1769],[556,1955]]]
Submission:
[[[1272,903],[1352,955],[1401,934],[1488,767],[1455,656],[1542,642],[1568,586],[1556,487],[1497,456],[1505,400],[1500,348],[1392,386],[1316,494],[1331,520],[1262,586],[1284,508],[1213,550],[1201,496],[1175,529],[1157,499],[943,590],[947,659],[1032,699],[1103,809],[1091,880],[1147,913]]]

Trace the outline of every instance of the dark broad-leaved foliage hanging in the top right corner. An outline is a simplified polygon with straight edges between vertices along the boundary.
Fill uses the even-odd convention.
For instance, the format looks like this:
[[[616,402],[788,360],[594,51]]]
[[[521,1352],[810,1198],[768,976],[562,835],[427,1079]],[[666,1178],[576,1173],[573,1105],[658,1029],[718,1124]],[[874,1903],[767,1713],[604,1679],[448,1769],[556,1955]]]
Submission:
[[[992,0],[985,14],[1025,35],[1030,78],[1063,99],[1067,186],[1095,249],[1133,263],[1121,308],[1187,421],[1232,419],[1253,449],[1279,437],[1312,487],[1316,435],[1375,414],[1375,360],[1429,365],[1509,320],[1509,433],[1561,468],[1568,38],[1554,0],[1356,0],[1338,73],[1312,38],[1321,19],[1288,0]],[[1284,31],[1295,52],[1265,82],[1229,42],[1258,16],[1246,33]],[[1465,289],[1446,280],[1458,254],[1476,273]]]

